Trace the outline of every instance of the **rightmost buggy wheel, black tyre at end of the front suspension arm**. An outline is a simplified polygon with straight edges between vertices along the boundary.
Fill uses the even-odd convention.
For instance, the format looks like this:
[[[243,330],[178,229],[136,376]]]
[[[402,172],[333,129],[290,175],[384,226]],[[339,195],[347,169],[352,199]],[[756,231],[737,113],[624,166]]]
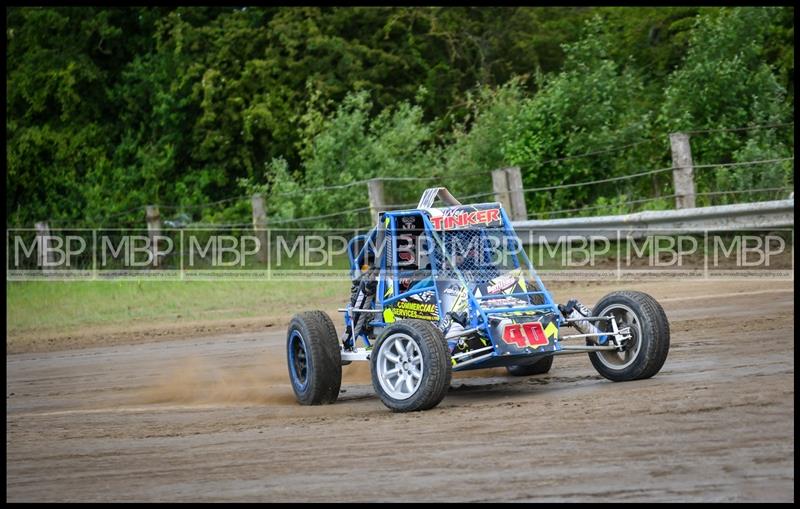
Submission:
[[[669,322],[664,308],[643,292],[613,292],[594,307],[594,316],[613,315],[620,328],[631,328],[631,339],[622,352],[590,352],[592,365],[602,376],[615,382],[641,380],[658,373],[669,352]],[[609,322],[597,322],[610,330]]]

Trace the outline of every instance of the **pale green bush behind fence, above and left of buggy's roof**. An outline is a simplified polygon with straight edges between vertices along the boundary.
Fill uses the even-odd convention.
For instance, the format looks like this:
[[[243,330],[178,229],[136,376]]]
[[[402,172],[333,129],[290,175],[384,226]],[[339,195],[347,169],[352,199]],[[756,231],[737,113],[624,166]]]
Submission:
[[[436,168],[432,131],[422,119],[418,105],[402,102],[370,117],[372,103],[367,92],[348,94],[330,117],[311,115],[321,125],[308,145],[302,171],[289,171],[283,160],[273,160],[265,178],[270,212],[276,218],[297,218],[367,208],[367,186],[361,181],[373,177],[407,178],[385,186],[388,203],[403,204],[417,197],[425,180]],[[270,178],[273,175],[274,178]],[[253,189],[252,181],[243,182]],[[313,189],[313,191],[303,191]],[[303,223],[312,227],[326,224]],[[364,210],[337,218],[339,226],[363,226],[369,222]]]

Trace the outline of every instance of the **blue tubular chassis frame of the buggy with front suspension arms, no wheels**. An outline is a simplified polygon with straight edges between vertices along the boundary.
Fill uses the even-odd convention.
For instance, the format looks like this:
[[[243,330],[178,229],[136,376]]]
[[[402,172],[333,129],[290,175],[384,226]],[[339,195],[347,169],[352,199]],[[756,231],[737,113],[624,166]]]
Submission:
[[[446,208],[432,207],[433,201],[436,197],[441,198],[443,201],[451,205]],[[345,308],[340,308],[338,311],[344,314],[344,323],[347,329],[341,338],[341,359],[343,364],[349,364],[353,361],[368,361],[373,346],[373,341],[380,335],[384,328],[391,325],[385,319],[384,311],[390,308],[393,304],[413,297],[423,291],[431,291],[431,287],[410,289],[405,292],[398,292],[397,294],[389,295],[391,291],[387,289],[399,288],[399,272],[396,265],[397,253],[397,239],[398,239],[398,225],[404,218],[414,217],[415,219],[421,218],[422,232],[428,236],[427,241],[433,242],[443,247],[443,239],[440,233],[441,228],[436,228],[433,224],[433,213],[439,213],[442,210],[456,209],[463,207],[457,200],[455,200],[449,192],[444,188],[432,188],[423,194],[422,200],[416,209],[405,209],[396,211],[382,212],[379,216],[378,224],[371,229],[367,234],[355,236],[348,244],[348,256],[350,260],[351,277],[356,280],[362,274],[362,264],[367,256],[370,254],[372,247],[377,267],[373,269],[378,270],[377,289],[375,298],[370,299],[369,306],[363,308],[356,308],[349,304]],[[499,210],[499,229],[502,233],[512,242],[517,243],[516,247],[521,247],[521,243],[513,226],[499,203],[484,203],[470,205],[469,207],[485,207],[492,210]],[[438,225],[441,226],[441,221]],[[480,228],[477,228],[479,230]],[[389,245],[386,246],[385,239],[389,240]],[[357,246],[363,243],[360,249]],[[388,247],[389,249],[375,249],[376,246]],[[553,300],[552,295],[546,289],[542,280],[538,276],[533,263],[531,263],[525,249],[517,249],[514,256],[512,256],[514,269],[519,270],[521,277],[524,281],[535,283],[536,291],[515,291],[513,293],[500,293],[497,295],[480,295],[476,296],[469,288],[469,284],[464,278],[462,272],[457,268],[457,264],[451,259],[449,262],[455,270],[459,283],[466,288],[467,299],[467,316],[469,322],[464,325],[461,330],[449,332],[444,330],[446,340],[459,340],[469,337],[481,337],[488,345],[477,349],[470,349],[465,352],[453,353],[451,356],[452,370],[453,371],[466,371],[471,369],[482,369],[498,366],[513,366],[513,365],[526,365],[533,364],[538,360],[551,355],[564,355],[574,353],[586,352],[602,352],[602,351],[618,351],[621,352],[625,348],[626,342],[631,339],[629,328],[620,328],[616,318],[613,315],[607,316],[583,316],[580,318],[569,318],[564,316],[560,306]],[[445,256],[447,256],[445,254]],[[387,258],[393,257],[391,260]],[[431,273],[434,281],[441,275],[441,267],[437,264],[431,264]],[[433,285],[434,299],[436,309],[439,310],[439,326],[442,328],[442,323],[445,320],[446,303],[443,302],[443,295],[440,285]],[[491,307],[487,304],[492,299],[497,298],[512,298],[517,301],[510,306],[505,307]],[[538,300],[540,303],[535,303]],[[360,315],[366,314],[366,326],[356,328]],[[519,315],[549,315],[552,317],[553,323],[557,329],[561,327],[574,326],[576,321],[589,322],[592,324],[605,323],[606,331],[600,331],[595,328],[596,332],[568,334],[561,336],[556,333],[554,337],[548,338],[546,345],[543,348],[513,348],[503,341],[505,335],[505,327],[512,326],[515,323],[515,316]],[[364,320],[361,320],[364,323]],[[368,331],[368,332],[367,332]],[[570,340],[583,340],[585,344],[563,344],[565,341]],[[358,343],[363,346],[358,346]]]

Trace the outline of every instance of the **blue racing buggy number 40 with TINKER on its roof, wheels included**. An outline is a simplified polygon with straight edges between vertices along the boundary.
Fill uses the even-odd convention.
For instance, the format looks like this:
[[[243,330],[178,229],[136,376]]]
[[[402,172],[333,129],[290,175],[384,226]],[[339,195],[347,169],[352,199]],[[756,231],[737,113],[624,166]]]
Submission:
[[[289,324],[301,404],[335,402],[342,366],[357,361],[370,363],[381,401],[408,412],[436,406],[453,371],[504,366],[530,376],[556,355],[586,352],[600,375],[629,381],[655,375],[667,358],[667,317],[645,293],[612,292],[593,310],[556,304],[499,203],[462,205],[445,188],[427,189],[416,209],[382,212],[347,250],[343,334],[322,311]]]

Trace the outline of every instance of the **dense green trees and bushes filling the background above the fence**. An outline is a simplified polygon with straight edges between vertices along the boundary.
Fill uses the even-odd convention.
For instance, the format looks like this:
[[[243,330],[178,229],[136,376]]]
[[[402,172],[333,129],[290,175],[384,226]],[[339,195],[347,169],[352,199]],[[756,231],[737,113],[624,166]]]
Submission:
[[[366,208],[367,178],[427,179],[384,183],[403,204],[437,182],[490,192],[508,165],[529,189],[578,183],[670,166],[678,130],[698,131],[698,164],[793,155],[793,8],[6,14],[9,225],[140,225],[151,203],[247,222],[232,198],[252,192],[287,221]],[[789,163],[698,170],[698,190],[791,186]],[[526,199],[592,214],[671,186],[661,173]]]

